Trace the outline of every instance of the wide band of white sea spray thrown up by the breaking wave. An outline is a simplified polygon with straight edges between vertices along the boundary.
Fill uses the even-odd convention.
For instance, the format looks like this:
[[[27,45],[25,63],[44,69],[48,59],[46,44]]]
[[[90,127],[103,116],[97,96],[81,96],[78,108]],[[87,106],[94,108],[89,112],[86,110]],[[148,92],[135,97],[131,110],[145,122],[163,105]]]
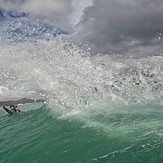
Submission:
[[[1,49],[4,97],[43,97],[64,110],[162,102],[162,57],[94,60],[63,39],[2,44]]]

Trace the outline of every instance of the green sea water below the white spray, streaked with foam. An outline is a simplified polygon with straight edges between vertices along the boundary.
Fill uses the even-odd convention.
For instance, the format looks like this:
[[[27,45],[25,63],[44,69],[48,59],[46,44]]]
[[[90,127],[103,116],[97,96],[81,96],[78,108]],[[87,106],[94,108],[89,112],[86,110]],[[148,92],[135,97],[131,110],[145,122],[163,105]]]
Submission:
[[[0,110],[0,163],[162,163],[163,107],[87,109],[24,105]]]

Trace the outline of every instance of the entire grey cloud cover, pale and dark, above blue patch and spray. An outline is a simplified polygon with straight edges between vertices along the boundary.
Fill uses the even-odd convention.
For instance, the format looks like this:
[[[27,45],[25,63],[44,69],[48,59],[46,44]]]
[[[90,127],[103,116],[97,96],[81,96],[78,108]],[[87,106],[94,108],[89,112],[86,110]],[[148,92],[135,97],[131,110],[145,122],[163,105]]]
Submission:
[[[0,0],[5,10],[26,12],[88,44],[95,53],[163,54],[162,0]]]

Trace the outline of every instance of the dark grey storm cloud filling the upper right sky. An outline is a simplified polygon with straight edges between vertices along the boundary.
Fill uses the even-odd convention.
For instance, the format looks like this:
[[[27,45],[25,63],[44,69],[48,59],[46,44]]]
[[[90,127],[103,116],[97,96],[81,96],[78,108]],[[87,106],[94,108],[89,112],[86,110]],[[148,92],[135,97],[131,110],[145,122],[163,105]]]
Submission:
[[[158,44],[161,49],[163,1],[95,0],[78,27],[77,38],[80,36],[96,52],[127,53]]]

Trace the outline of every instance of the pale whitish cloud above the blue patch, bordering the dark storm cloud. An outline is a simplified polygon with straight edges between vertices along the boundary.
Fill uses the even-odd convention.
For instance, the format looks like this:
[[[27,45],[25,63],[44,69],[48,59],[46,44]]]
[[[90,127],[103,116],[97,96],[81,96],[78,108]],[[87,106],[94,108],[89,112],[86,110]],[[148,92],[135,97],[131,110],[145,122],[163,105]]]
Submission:
[[[41,18],[56,27],[70,30],[83,16],[85,8],[94,0],[0,0],[0,7],[9,11],[23,11],[30,17]]]

